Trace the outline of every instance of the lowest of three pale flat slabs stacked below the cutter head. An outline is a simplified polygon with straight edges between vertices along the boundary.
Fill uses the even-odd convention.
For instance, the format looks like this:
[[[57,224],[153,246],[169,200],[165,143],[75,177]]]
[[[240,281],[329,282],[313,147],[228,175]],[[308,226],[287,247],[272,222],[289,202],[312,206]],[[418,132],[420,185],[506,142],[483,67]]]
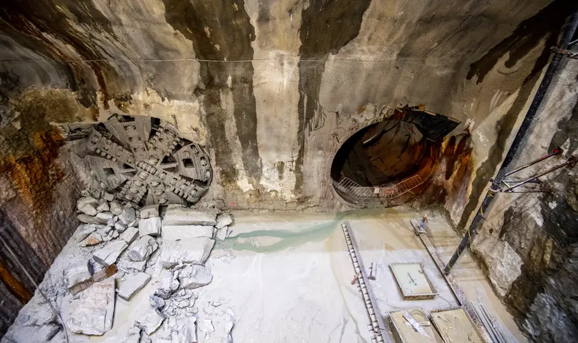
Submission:
[[[179,263],[203,264],[207,261],[214,244],[213,239],[206,237],[164,241],[160,263],[164,268],[171,268]]]

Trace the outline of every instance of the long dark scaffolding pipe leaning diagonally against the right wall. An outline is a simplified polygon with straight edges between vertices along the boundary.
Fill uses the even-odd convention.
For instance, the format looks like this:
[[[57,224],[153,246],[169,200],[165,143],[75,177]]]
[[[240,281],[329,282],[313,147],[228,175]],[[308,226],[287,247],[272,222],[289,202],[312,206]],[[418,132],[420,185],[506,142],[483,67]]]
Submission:
[[[578,26],[578,5],[575,5],[574,12],[570,16],[568,24],[565,26],[566,27],[564,28],[564,32],[559,43],[559,49],[563,50],[568,48],[568,45],[570,44],[574,33],[576,32],[576,27]],[[470,239],[473,239],[477,235],[477,227],[483,219],[483,213],[487,214],[490,210],[490,205],[494,200],[494,194],[499,191],[500,184],[505,177],[505,174],[507,174],[507,167],[514,160],[514,157],[516,156],[521,143],[524,141],[528,129],[531,126],[534,117],[536,117],[536,113],[538,113],[538,109],[540,108],[540,105],[542,104],[542,101],[544,100],[544,97],[550,88],[550,84],[554,78],[554,75],[556,75],[557,69],[560,66],[560,61],[563,57],[564,55],[562,54],[554,54],[552,57],[552,60],[548,65],[548,69],[546,69],[546,73],[544,73],[544,78],[542,78],[542,82],[540,82],[538,91],[536,92],[536,95],[534,96],[532,103],[528,108],[528,112],[522,121],[522,125],[518,129],[518,133],[516,133],[516,137],[510,146],[510,150],[508,150],[500,170],[498,171],[498,175],[496,178],[494,178],[494,180],[492,180],[492,185],[490,185],[490,189],[488,190],[488,193],[486,193],[486,197],[483,198],[483,201],[481,202],[481,205],[479,206],[479,209],[477,210],[472,223],[466,231],[466,235],[464,235],[464,238],[462,238],[462,241],[460,241],[460,245],[457,246],[457,249],[447,263],[446,268],[444,268],[444,272],[449,273],[451,268],[453,268],[453,265],[455,265],[457,259],[460,258],[460,255],[464,249],[466,249],[468,246]]]

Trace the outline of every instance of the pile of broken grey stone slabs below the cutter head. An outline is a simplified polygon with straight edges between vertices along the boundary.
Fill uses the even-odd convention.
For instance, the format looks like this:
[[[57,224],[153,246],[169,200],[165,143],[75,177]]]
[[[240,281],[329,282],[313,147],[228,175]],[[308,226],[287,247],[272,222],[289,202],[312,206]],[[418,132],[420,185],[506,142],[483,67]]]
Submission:
[[[85,193],[86,195],[86,193]],[[71,302],[66,327],[74,333],[103,335],[112,328],[115,297],[126,301],[145,287],[156,268],[160,282],[150,296],[151,308],[134,322],[127,337],[107,342],[151,342],[149,335],[163,323],[172,337],[155,342],[199,342],[197,337],[197,293],[213,276],[205,268],[215,240],[224,240],[234,221],[217,208],[190,209],[158,204],[139,208],[121,204],[110,193],[99,198],[84,196],[77,202],[79,226],[73,239],[90,250],[88,261],[64,268],[68,291],[77,292]],[[101,281],[95,275],[116,265],[118,272]],[[92,281],[95,281],[91,283]],[[86,288],[86,289],[84,289]],[[227,319],[227,341],[232,342],[234,313]]]

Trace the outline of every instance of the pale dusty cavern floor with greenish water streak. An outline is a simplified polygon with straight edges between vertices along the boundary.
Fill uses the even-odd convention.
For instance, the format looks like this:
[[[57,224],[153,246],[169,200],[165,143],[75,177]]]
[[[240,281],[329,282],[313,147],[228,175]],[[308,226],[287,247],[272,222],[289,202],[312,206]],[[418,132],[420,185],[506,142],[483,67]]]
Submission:
[[[194,304],[199,309],[202,342],[227,342],[225,318],[234,316],[234,342],[370,342],[368,317],[360,293],[351,285],[353,265],[340,223],[349,220],[361,259],[368,266],[378,263],[377,279],[370,287],[377,298],[379,313],[421,307],[426,311],[455,307],[457,300],[435,263],[412,232],[409,220],[420,217],[411,210],[357,211],[347,215],[299,213],[234,213],[233,233],[218,242],[206,265],[213,281],[196,289]],[[429,237],[444,260],[459,241],[440,215],[429,215]],[[65,261],[82,256],[75,244],[68,244],[49,274]],[[388,265],[421,262],[439,295],[432,300],[404,301]],[[162,268],[129,302],[116,299],[114,325],[105,335],[88,342],[121,342],[134,320],[150,308]],[[469,255],[462,256],[453,270],[468,300],[483,296],[498,319],[508,342],[525,342],[505,307],[494,296],[489,283]],[[35,296],[39,297],[38,294]],[[31,314],[34,300],[21,311]],[[42,311],[40,311],[42,312]],[[210,320],[210,321],[209,321]],[[169,320],[151,335],[153,342],[170,334]],[[17,342],[35,342],[38,327],[24,326],[21,318],[10,330]],[[165,331],[166,330],[166,331]],[[214,331],[213,331],[214,330]],[[202,337],[202,335],[201,335]],[[86,342],[87,336],[71,335],[71,342]],[[10,342],[3,340],[2,342]],[[64,342],[62,333],[51,342]],[[199,340],[201,342],[201,340]]]

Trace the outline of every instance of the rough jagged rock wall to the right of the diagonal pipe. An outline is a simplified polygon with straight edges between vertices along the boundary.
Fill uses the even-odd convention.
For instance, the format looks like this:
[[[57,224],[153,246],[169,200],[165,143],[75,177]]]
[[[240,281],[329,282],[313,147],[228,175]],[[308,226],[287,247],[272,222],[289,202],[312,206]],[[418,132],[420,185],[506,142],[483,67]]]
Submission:
[[[569,60],[551,86],[518,165],[562,147],[531,176],[578,154],[578,61]],[[512,176],[513,178],[514,176]],[[536,342],[578,339],[578,178],[576,168],[541,180],[551,193],[499,194],[473,251],[497,294]]]

